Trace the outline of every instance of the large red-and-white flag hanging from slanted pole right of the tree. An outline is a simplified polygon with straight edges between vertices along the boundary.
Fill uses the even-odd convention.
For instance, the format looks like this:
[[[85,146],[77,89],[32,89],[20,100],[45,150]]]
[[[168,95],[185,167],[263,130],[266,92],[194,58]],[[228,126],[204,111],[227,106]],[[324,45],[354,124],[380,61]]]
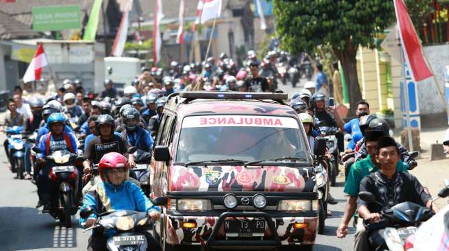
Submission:
[[[397,29],[399,30],[399,38],[406,63],[412,70],[412,76],[415,81],[425,80],[432,76],[432,72],[424,58],[415,27],[413,27],[410,16],[408,16],[407,7],[403,0],[393,1],[395,3]]]

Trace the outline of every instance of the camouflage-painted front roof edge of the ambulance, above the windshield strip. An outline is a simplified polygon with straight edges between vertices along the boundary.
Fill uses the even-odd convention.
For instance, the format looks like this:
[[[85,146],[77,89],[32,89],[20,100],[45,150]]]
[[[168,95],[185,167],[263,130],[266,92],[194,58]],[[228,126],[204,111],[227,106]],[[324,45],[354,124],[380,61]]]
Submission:
[[[168,107],[168,109],[172,110]],[[197,99],[177,106],[179,118],[190,115],[277,115],[297,118],[289,106],[269,101]]]

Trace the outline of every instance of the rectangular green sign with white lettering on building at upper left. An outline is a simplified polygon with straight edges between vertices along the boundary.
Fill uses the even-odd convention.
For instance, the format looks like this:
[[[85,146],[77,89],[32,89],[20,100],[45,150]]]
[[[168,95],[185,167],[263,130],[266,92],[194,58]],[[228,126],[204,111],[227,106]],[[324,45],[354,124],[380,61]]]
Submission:
[[[34,7],[32,16],[35,32],[79,29],[81,27],[79,5]]]

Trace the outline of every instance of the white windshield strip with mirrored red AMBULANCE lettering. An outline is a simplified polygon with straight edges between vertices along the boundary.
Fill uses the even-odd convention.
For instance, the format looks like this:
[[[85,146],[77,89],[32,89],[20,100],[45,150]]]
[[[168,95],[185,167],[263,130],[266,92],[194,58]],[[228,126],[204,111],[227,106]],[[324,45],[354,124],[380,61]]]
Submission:
[[[298,121],[291,117],[210,115],[184,118],[182,128],[206,128],[215,126],[256,126],[299,129]]]

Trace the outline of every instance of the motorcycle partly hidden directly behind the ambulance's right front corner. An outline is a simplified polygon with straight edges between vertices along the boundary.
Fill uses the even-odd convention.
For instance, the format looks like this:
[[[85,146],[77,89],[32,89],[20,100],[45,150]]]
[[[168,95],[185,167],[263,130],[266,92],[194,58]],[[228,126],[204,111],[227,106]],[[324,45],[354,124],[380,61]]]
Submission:
[[[316,187],[318,189],[318,234],[322,235],[325,230],[325,220],[327,218],[327,198],[329,195],[328,176],[326,168],[323,167],[323,159],[318,160],[315,167]]]

